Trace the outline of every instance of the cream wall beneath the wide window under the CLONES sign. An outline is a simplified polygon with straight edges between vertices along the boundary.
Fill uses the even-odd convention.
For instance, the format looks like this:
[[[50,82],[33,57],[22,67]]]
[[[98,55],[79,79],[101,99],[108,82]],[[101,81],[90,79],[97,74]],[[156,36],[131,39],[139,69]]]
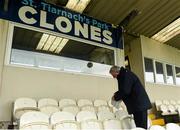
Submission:
[[[12,103],[18,97],[108,100],[117,90],[117,82],[112,78],[4,65],[7,25],[0,20],[0,121],[11,119]],[[124,58],[123,52],[117,55],[118,59]]]

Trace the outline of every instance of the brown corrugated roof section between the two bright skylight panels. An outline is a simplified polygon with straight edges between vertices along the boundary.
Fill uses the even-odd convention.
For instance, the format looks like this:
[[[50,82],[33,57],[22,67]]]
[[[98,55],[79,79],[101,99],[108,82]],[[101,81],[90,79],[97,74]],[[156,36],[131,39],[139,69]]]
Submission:
[[[117,25],[134,9],[139,10],[140,14],[125,29],[151,37],[180,17],[180,0],[91,0],[84,13]],[[126,37],[125,42],[132,38]],[[167,44],[174,46],[179,42],[179,38],[173,38]]]

